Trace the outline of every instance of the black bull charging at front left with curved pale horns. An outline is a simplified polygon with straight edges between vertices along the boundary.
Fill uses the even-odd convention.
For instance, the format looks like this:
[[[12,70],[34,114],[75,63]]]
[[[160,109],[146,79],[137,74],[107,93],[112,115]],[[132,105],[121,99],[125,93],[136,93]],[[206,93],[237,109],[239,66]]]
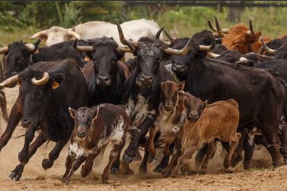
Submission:
[[[11,179],[18,181],[21,178],[26,163],[47,140],[56,142],[56,145],[49,158],[42,161],[45,170],[53,166],[68,142],[73,130],[68,108],[87,106],[87,83],[77,64],[72,59],[38,62],[0,84],[0,87],[13,82],[20,84],[19,96],[12,107],[6,131],[0,138],[0,149],[8,143],[20,120],[21,125],[27,128],[24,147],[18,156],[20,164],[11,172]],[[40,133],[30,145],[37,130]]]

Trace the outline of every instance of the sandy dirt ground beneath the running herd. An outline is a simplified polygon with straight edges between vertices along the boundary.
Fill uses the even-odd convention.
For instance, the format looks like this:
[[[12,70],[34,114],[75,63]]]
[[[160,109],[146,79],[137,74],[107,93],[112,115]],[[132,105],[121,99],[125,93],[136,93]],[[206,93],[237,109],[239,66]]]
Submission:
[[[18,87],[5,89],[8,100],[8,111],[12,108]],[[1,118],[1,133],[6,128],[6,122]],[[255,151],[252,169],[241,170],[232,174],[222,172],[223,157],[220,147],[216,156],[209,162],[207,174],[180,175],[177,179],[162,178],[153,171],[155,164],[148,165],[148,174],[138,174],[139,161],[132,163],[133,176],[112,175],[109,183],[101,182],[101,173],[107,164],[110,147],[107,147],[103,158],[96,159],[93,171],[86,178],[80,177],[78,170],[69,185],[60,181],[64,173],[64,161],[67,156],[67,146],[60,157],[49,170],[42,168],[42,160],[47,157],[54,143],[42,145],[26,165],[20,181],[11,181],[8,175],[18,165],[18,152],[23,147],[24,138],[16,138],[24,134],[21,126],[17,127],[8,145],[0,154],[0,190],[287,190],[287,166],[268,168],[271,165],[270,155],[266,149]],[[219,144],[218,144],[219,145]],[[46,147],[46,148],[45,148]],[[159,160],[157,160],[159,161]],[[155,162],[156,163],[156,162]],[[191,159],[191,166],[194,159]]]

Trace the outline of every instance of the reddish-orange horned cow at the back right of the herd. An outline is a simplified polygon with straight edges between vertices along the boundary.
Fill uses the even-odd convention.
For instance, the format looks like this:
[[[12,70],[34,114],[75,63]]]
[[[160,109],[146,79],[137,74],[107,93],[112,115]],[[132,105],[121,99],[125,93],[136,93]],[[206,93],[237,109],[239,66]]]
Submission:
[[[244,24],[236,24],[232,28],[221,29],[218,20],[216,18],[216,28],[209,24],[211,30],[218,33],[224,33],[222,38],[222,44],[229,50],[238,50],[241,54],[250,52],[257,53],[261,47],[259,38],[261,37],[261,31],[255,32],[253,30],[252,21],[250,26],[247,28]]]

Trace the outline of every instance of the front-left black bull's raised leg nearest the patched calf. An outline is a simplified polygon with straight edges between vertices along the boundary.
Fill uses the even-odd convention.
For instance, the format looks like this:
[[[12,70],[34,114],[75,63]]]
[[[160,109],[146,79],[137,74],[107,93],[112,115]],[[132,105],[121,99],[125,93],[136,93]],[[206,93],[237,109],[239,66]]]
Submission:
[[[64,145],[67,144],[70,135],[71,134],[69,134],[69,136],[67,135],[61,138],[49,153],[49,158],[44,158],[44,160],[42,161],[42,167],[44,168],[44,170],[47,170],[53,166],[54,161],[59,157]]]

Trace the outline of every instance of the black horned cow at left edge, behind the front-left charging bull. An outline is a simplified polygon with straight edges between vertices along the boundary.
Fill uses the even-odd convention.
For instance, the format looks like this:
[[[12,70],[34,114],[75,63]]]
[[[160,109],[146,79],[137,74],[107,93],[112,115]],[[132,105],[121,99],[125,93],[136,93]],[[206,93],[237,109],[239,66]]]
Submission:
[[[28,66],[41,61],[51,62],[73,58],[77,61],[78,66],[82,67],[85,64],[84,57],[73,48],[73,41],[61,42],[49,47],[38,47],[40,39],[34,44],[25,44],[24,42],[13,42],[8,46],[0,49],[0,54],[6,55],[6,79],[12,75],[16,75],[19,71],[23,71]],[[83,44],[85,41],[80,41]],[[92,42],[91,42],[92,43]]]

